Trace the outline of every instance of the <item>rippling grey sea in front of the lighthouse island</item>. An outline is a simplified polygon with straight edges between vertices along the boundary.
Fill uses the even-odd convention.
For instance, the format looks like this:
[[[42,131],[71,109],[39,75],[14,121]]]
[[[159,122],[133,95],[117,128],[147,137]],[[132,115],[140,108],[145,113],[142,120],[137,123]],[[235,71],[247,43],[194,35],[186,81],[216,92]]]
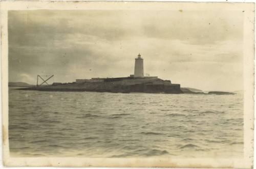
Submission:
[[[11,156],[243,156],[243,95],[9,88]]]

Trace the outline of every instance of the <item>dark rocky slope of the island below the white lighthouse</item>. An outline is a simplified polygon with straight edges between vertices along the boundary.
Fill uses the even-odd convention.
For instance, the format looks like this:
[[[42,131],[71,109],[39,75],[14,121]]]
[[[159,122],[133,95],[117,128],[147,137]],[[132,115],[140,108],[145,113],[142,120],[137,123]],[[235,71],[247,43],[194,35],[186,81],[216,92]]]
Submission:
[[[156,79],[124,79],[110,82],[84,82],[65,83],[62,85],[31,87],[20,90],[38,91],[91,91],[91,92],[113,92],[113,93],[183,93],[179,84],[172,84],[169,80]]]

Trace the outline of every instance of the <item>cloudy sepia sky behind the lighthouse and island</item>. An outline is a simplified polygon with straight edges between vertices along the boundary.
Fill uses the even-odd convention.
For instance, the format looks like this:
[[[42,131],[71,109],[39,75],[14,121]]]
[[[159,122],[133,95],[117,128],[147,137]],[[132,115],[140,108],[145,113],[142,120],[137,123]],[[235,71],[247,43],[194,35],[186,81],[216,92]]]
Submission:
[[[9,81],[144,74],[201,90],[243,89],[242,11],[9,11]]]

